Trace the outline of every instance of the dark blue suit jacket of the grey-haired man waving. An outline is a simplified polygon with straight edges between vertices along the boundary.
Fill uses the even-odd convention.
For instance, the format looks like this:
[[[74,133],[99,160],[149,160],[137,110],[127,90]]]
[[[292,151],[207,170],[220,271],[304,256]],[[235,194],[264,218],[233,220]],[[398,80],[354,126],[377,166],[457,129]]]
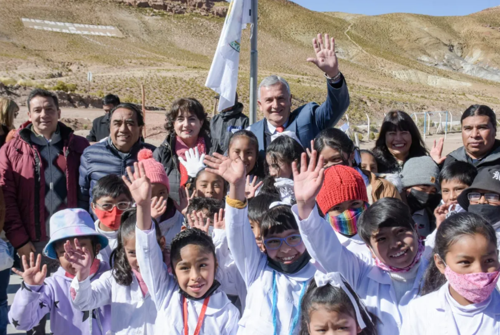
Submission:
[[[310,148],[310,141],[319,131],[334,126],[349,106],[349,91],[342,76],[342,86],[334,88],[327,83],[328,94],[321,105],[309,102],[293,110],[288,118],[285,130],[294,131],[304,148]],[[265,118],[250,125],[250,130],[257,136],[260,159],[265,159],[264,122]]]

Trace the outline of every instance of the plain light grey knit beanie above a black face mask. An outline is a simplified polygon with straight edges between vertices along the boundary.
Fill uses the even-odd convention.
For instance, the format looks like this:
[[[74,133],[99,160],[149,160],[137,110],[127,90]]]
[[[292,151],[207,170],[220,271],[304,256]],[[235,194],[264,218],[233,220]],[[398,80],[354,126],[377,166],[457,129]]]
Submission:
[[[439,190],[439,167],[430,156],[413,157],[404,162],[401,171],[403,188],[415,185],[435,186]]]

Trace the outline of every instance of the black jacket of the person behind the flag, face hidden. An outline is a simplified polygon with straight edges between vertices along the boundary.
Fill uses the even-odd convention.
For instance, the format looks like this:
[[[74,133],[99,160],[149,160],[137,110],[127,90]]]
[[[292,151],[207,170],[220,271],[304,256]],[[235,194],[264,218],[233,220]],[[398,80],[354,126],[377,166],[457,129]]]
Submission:
[[[238,102],[231,110],[220,112],[210,120],[210,137],[218,141],[222,152],[227,150],[231,130],[241,130],[248,126],[248,117],[242,111],[243,104]]]

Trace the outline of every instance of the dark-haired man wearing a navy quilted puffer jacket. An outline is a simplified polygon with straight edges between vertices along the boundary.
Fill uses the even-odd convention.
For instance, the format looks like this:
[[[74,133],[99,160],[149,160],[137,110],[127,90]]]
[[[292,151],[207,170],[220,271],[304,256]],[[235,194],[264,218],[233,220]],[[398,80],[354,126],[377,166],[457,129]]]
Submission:
[[[154,151],[154,145],[140,140],[144,118],[137,107],[121,103],[109,112],[109,137],[87,147],[81,155],[79,205],[92,213],[92,188],[107,174],[126,174],[125,168],[137,161],[142,148]]]

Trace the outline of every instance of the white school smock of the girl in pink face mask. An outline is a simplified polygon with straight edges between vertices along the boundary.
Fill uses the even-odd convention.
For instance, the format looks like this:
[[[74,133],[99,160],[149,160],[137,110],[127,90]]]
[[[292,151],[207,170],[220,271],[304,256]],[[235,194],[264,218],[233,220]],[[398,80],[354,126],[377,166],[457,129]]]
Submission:
[[[500,293],[493,290],[483,302],[460,306],[451,297],[447,282],[411,301],[401,328],[401,335],[499,334]]]

